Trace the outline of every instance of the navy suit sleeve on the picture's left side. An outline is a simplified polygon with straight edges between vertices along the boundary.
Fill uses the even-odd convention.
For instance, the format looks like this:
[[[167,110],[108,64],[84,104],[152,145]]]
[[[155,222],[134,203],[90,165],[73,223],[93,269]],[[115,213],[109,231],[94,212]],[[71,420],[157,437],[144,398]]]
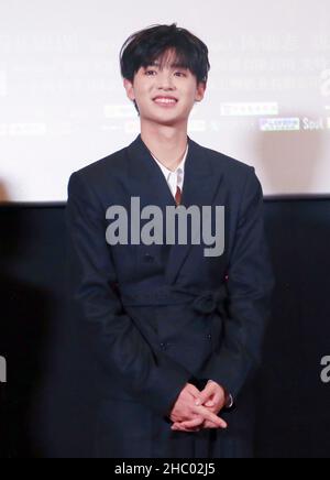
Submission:
[[[106,211],[78,172],[69,178],[65,215],[70,298],[90,327],[98,360],[136,401],[167,416],[190,372],[162,351],[155,353],[123,310],[113,287],[117,275],[106,240]]]

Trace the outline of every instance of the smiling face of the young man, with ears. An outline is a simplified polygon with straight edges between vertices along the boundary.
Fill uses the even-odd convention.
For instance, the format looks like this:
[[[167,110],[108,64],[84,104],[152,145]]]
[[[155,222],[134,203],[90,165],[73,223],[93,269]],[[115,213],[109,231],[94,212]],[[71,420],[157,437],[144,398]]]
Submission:
[[[197,85],[195,75],[186,68],[175,67],[175,52],[167,52],[164,65],[160,62],[141,67],[133,84],[124,79],[130,100],[135,100],[141,120],[161,124],[187,121],[196,101],[201,101],[206,85]]]

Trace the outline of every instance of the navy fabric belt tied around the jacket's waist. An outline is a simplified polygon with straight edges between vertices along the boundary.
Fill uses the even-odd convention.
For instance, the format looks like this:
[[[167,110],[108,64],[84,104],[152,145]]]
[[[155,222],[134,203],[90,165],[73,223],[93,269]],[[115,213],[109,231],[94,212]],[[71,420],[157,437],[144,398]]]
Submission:
[[[224,301],[227,298],[226,284],[217,290],[200,291],[197,287],[182,287],[176,285],[163,285],[141,290],[139,285],[119,285],[118,291],[124,306],[166,306],[191,304],[199,314],[212,314],[219,312],[226,316]]]

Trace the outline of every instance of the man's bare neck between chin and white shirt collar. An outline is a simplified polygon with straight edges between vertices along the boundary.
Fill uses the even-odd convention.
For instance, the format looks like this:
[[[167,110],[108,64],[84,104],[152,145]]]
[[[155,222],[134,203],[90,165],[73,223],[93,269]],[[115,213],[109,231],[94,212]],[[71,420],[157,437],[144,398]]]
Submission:
[[[182,162],[187,149],[187,126],[173,128],[141,123],[141,138],[150,152],[166,168],[175,171]]]

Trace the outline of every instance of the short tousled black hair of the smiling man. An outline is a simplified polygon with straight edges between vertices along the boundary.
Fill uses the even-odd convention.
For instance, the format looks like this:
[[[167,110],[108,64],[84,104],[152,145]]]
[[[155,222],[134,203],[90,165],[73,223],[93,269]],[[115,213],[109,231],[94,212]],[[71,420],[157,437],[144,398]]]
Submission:
[[[167,51],[175,51],[175,66],[188,68],[197,84],[208,81],[210,70],[207,45],[186,29],[172,25],[151,25],[133,33],[120,51],[120,69],[123,78],[133,83],[141,67],[153,65],[160,59],[161,67],[166,61]],[[139,112],[136,101],[135,109]]]

